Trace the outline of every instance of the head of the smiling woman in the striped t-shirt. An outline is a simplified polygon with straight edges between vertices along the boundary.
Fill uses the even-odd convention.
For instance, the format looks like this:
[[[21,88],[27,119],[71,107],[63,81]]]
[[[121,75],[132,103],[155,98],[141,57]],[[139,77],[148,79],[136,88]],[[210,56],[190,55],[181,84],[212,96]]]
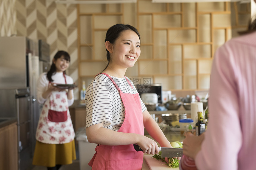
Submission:
[[[119,71],[114,71],[114,69],[121,69],[121,74],[124,74],[126,69],[132,67],[138,60],[141,54],[140,42],[141,37],[136,28],[122,24],[110,27],[105,39],[108,64],[103,71],[118,77],[116,74],[119,73]]]

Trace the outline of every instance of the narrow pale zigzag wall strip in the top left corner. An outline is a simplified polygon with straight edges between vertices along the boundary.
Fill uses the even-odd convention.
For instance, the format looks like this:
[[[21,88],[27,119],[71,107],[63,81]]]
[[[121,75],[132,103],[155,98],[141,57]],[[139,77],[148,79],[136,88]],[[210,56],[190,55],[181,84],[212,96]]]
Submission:
[[[16,34],[15,0],[0,0],[0,36]]]

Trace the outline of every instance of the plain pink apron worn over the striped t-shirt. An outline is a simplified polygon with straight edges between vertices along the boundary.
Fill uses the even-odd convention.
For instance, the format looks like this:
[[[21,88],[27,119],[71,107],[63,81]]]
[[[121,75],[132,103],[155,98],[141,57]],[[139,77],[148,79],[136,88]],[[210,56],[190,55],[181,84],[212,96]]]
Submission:
[[[105,73],[100,73],[105,74]],[[122,93],[121,89],[114,80],[105,74],[120,91],[120,96],[125,108],[124,123],[118,132],[135,133],[144,135],[143,115],[139,93]],[[126,77],[125,77],[126,78]],[[129,80],[126,78],[132,87]],[[143,152],[136,152],[133,144],[120,146],[98,145],[96,153],[88,163],[92,170],[141,170],[143,163]]]

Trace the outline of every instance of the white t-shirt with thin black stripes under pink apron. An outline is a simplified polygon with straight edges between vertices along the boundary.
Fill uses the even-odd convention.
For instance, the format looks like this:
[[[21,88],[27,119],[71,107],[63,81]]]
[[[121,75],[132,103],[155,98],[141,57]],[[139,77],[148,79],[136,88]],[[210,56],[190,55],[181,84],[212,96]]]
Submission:
[[[112,76],[111,76],[112,77]],[[138,93],[132,81],[128,84],[125,77],[112,77],[123,93]],[[113,82],[104,74],[98,74],[86,89],[86,125],[89,127],[97,123],[103,123],[104,128],[118,131],[124,122],[125,109],[119,91]],[[142,112],[147,108],[141,100]]]

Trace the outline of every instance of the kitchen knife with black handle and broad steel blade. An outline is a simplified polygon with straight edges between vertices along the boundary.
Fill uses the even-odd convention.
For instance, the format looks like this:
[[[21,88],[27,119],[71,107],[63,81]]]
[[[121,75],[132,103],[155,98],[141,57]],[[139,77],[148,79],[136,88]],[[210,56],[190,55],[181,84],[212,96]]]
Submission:
[[[138,144],[133,144],[133,147],[136,151],[143,151]],[[159,147],[159,150],[162,151],[162,157],[182,157],[183,149],[173,148],[173,147]]]

